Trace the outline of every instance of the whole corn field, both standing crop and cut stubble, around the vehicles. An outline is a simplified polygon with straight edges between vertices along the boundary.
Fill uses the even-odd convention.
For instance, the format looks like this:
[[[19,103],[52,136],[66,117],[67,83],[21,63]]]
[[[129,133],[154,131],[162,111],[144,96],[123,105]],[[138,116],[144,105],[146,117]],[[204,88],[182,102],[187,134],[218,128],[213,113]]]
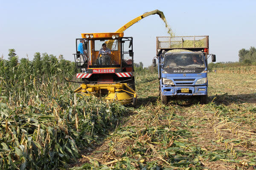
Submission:
[[[209,73],[208,104],[189,98],[163,105],[157,73],[136,73],[139,97],[132,108],[74,94],[78,84],[64,80],[73,79],[74,67],[48,54],[0,61],[0,169],[256,166],[254,75]]]

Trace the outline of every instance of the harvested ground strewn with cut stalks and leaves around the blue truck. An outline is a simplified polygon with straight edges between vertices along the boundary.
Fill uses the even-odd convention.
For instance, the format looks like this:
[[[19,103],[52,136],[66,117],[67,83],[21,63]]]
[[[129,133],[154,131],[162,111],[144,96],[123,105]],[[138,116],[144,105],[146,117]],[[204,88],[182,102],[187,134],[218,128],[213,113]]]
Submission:
[[[138,104],[71,169],[256,169],[256,77],[208,74],[208,102],[160,101],[157,74],[138,74]]]

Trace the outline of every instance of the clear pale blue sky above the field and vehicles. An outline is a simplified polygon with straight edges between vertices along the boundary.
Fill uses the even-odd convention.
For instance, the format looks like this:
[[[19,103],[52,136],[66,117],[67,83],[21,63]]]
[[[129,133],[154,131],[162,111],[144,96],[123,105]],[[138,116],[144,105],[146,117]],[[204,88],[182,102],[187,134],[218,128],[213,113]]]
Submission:
[[[115,32],[145,12],[163,11],[176,36],[209,35],[217,62],[238,61],[238,51],[256,46],[255,0],[0,0],[0,56],[15,48],[19,59],[35,52],[73,61],[81,33]],[[134,60],[151,64],[156,37],[168,36],[158,15],[125,30],[134,38]]]

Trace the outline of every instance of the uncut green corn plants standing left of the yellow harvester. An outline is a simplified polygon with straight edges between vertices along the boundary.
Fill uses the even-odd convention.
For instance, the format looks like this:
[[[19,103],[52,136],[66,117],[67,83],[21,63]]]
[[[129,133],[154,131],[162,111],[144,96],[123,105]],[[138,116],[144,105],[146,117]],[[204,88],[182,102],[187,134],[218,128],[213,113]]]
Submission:
[[[63,169],[115,127],[119,103],[76,96],[74,63],[35,54],[13,68],[0,61],[0,169]]]

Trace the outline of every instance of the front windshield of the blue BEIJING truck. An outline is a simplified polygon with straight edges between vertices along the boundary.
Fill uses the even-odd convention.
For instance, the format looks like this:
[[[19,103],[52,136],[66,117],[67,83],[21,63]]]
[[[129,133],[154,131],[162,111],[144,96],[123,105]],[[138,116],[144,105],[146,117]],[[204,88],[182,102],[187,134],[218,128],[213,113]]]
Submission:
[[[202,54],[166,54],[163,68],[172,67],[195,67],[204,68],[204,57]]]

